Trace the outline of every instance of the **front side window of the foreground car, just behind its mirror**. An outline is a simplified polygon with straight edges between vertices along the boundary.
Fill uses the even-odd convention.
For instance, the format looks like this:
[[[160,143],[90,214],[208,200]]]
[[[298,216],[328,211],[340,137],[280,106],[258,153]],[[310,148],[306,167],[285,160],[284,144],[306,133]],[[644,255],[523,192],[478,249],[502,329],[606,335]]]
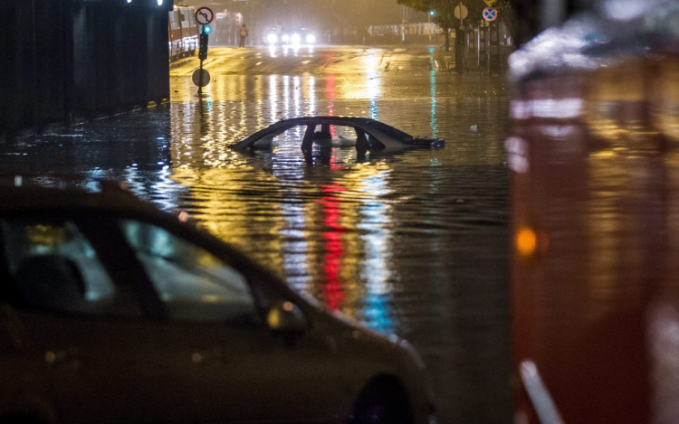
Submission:
[[[250,287],[232,266],[158,226],[133,220],[120,225],[170,318],[209,322],[255,316]]]

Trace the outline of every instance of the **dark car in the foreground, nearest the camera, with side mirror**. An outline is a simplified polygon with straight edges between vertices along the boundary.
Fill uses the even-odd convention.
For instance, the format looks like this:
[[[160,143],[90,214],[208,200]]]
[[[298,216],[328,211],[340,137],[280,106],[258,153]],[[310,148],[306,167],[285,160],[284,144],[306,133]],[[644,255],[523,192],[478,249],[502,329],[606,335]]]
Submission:
[[[421,359],[110,185],[0,187],[0,421],[428,423]]]

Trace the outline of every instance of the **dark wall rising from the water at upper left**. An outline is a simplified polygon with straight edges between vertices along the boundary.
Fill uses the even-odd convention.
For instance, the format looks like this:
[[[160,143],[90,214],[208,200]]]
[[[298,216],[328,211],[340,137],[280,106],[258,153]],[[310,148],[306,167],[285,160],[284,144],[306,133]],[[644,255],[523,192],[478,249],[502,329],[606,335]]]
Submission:
[[[169,98],[172,0],[5,0],[0,140]]]

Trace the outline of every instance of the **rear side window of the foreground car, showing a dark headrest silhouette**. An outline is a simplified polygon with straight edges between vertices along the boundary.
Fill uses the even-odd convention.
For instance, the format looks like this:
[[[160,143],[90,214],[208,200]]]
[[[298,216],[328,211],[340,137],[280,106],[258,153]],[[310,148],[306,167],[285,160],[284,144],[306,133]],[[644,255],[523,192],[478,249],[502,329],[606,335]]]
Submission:
[[[131,287],[116,286],[75,221],[0,219],[11,292],[27,306],[87,314],[141,316]]]

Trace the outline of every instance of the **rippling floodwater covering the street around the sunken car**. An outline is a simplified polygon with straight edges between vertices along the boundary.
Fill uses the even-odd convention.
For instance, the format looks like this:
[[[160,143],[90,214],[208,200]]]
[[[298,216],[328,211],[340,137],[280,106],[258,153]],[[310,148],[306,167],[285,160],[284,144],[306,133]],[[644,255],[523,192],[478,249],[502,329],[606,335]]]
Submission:
[[[3,174],[129,182],[168,211],[280,273],[297,291],[423,356],[440,422],[509,422],[507,83],[434,71],[430,52],[389,70],[337,66],[282,74],[213,74],[206,97],[171,77],[172,99],[0,146]],[[419,53],[418,53],[419,54]],[[378,118],[438,150],[357,161],[351,147],[229,145],[281,118]]]

